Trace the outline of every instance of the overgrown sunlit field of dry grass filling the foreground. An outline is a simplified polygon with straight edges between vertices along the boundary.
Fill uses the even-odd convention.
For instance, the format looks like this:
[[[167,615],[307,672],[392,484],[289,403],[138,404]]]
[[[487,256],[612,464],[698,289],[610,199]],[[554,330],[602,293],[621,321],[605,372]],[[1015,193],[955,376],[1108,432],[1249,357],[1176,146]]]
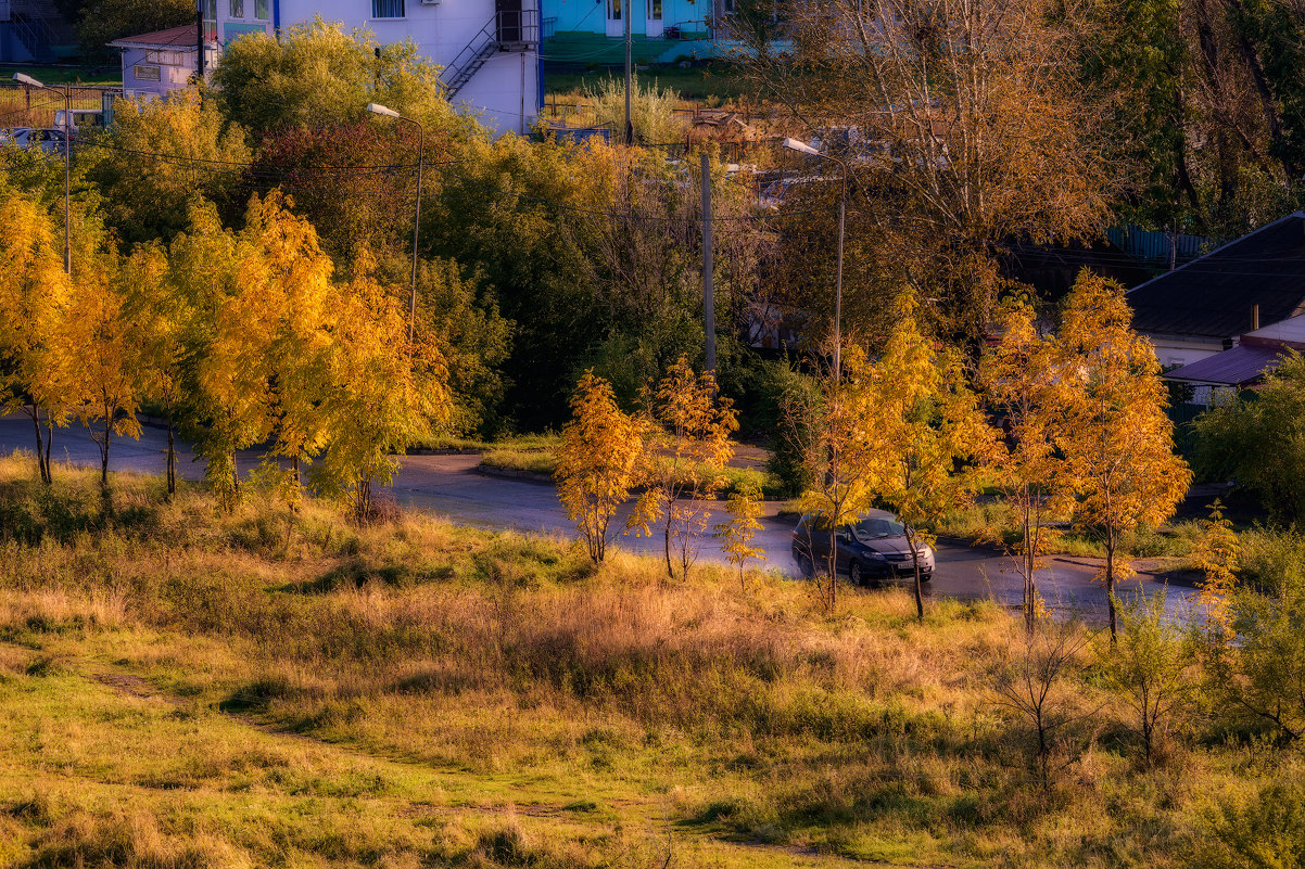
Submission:
[[[1301,817],[1254,729],[1185,718],[1142,763],[1077,628],[1043,780],[990,605],[827,613],[763,574],[27,465],[0,459],[0,865],[1238,865]]]

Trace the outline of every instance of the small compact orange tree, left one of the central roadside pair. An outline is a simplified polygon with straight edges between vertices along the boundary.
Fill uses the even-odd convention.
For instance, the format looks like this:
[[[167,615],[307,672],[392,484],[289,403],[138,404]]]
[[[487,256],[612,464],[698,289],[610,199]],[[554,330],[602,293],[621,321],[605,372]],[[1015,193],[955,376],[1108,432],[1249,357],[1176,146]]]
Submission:
[[[638,481],[643,432],[592,369],[581,377],[570,406],[555,472],[557,497],[598,564],[607,556],[612,517]]]

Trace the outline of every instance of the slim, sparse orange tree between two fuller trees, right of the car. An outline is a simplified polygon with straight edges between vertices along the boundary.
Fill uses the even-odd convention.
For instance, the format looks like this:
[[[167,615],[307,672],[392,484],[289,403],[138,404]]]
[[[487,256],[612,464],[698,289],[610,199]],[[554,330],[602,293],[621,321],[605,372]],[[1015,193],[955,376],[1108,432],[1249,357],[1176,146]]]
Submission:
[[[1030,305],[1009,303],[996,330],[1001,341],[984,358],[980,377],[1005,437],[992,453],[989,470],[1019,522],[1021,539],[1010,555],[1024,581],[1024,624],[1032,630],[1041,602],[1036,572],[1048,543],[1047,523],[1067,508],[1071,495],[1056,450],[1060,376],[1054,342],[1041,334]]]

